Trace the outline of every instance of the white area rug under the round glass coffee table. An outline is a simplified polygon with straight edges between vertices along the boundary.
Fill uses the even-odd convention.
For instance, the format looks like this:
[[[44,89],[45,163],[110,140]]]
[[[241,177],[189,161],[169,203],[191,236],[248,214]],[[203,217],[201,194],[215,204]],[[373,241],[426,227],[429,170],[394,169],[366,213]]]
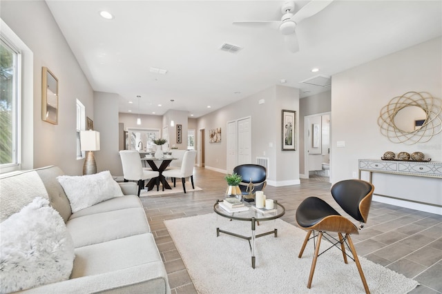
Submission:
[[[310,240],[298,253],[305,231],[280,219],[261,222],[256,233],[278,228],[278,237],[256,239],[256,268],[251,268],[249,242],[216,228],[250,236],[250,222],[232,221],[215,213],[164,221],[198,293],[365,293],[356,264],[332,248],[321,255],[311,288],[307,280],[313,256]],[[321,249],[327,248],[325,239]],[[356,245],[357,250],[357,245]],[[371,293],[407,293],[418,282],[359,257]]]

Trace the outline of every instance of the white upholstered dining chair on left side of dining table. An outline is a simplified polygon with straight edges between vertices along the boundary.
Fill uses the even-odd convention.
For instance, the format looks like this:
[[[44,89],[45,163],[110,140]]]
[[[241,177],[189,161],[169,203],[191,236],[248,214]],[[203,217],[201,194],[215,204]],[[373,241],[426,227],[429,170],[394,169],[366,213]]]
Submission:
[[[154,170],[146,170],[142,167],[140,153],[137,150],[121,150],[119,157],[122,159],[124,182],[136,181],[138,184],[138,197],[144,188],[146,179],[158,177],[160,173]],[[157,187],[160,183],[157,182]]]

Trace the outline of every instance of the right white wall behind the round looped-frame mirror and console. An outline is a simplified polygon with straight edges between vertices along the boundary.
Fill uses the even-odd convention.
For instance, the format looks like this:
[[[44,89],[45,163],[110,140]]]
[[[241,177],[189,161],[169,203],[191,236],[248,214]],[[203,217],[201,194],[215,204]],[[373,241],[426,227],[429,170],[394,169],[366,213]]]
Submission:
[[[380,159],[387,150],[396,154],[421,151],[432,161],[442,161],[442,133],[427,143],[408,146],[389,141],[381,135],[377,124],[381,108],[405,92],[425,91],[442,98],[441,37],[340,72],[332,81],[331,182],[352,178],[358,170],[358,159]],[[345,141],[345,148],[337,148],[337,141]],[[419,187],[417,197],[425,198],[428,193],[442,195],[441,179],[404,180],[376,174],[374,184],[375,193],[381,194],[390,193],[387,186],[390,190],[394,186],[397,197],[408,197],[411,186],[406,184]]]

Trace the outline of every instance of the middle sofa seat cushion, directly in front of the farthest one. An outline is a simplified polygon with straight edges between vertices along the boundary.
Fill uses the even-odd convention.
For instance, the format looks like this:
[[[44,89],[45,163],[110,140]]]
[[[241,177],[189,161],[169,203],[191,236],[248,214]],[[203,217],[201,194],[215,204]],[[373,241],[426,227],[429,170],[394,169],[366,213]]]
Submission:
[[[84,215],[70,219],[66,227],[75,248],[150,232],[143,208]]]

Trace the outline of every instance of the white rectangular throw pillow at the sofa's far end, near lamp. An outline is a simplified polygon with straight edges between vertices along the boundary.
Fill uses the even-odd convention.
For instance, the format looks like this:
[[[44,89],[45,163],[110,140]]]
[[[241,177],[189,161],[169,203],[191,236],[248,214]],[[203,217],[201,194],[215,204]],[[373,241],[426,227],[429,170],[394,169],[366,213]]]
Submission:
[[[122,189],[113,180],[109,170],[95,175],[61,175],[57,179],[68,196],[72,213],[113,197],[123,196]]]

